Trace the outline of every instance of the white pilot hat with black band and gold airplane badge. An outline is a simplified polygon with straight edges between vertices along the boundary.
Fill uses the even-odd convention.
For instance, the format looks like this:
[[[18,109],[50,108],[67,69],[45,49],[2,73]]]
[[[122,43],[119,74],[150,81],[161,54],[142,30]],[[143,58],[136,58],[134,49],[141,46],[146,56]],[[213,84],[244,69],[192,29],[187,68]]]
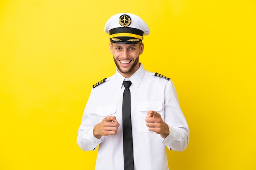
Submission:
[[[150,33],[147,24],[137,15],[132,13],[118,13],[106,22],[106,33],[113,43],[138,44],[144,35]]]

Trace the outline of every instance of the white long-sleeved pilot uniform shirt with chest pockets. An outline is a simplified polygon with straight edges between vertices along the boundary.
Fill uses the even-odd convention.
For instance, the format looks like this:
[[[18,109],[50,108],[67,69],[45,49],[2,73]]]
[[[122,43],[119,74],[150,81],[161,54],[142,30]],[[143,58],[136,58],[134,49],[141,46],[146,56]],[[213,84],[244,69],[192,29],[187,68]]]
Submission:
[[[123,81],[119,72],[98,85],[90,94],[78,131],[77,143],[83,150],[94,150],[99,144],[95,170],[123,170],[122,134]],[[182,151],[189,142],[189,128],[180,109],[172,81],[140,68],[129,78],[132,82],[131,119],[135,170],[168,170],[165,146]],[[148,131],[147,111],[161,114],[170,129],[168,137]],[[97,139],[93,128],[107,116],[116,116],[120,126],[116,135]]]

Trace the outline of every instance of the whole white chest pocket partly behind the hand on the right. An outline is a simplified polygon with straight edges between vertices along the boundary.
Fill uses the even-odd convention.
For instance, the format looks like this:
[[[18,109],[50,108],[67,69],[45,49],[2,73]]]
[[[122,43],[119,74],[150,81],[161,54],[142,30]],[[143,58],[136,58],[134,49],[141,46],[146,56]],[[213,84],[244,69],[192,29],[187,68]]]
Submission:
[[[146,116],[148,111],[156,111],[159,113],[164,120],[163,114],[163,103],[162,101],[146,101],[146,102],[138,102],[138,113],[137,113],[137,128],[142,133],[152,133],[148,130],[148,126],[146,126]]]

